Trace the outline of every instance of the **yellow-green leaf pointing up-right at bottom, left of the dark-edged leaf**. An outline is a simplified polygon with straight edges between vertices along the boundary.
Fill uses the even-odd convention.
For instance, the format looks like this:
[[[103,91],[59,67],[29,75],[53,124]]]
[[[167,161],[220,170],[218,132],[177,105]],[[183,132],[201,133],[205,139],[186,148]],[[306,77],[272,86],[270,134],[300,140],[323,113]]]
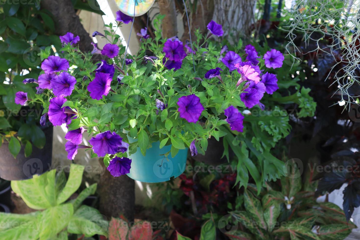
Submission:
[[[56,236],[68,225],[72,215],[73,207],[71,203],[51,207],[38,216],[40,225],[40,239],[51,239]]]

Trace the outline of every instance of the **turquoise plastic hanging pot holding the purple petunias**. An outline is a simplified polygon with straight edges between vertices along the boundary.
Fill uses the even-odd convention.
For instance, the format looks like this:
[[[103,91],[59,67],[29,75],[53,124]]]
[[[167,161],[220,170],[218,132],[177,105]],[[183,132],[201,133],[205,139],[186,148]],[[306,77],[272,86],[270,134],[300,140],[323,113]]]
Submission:
[[[170,154],[168,160],[161,156],[170,150],[171,145],[160,149],[160,142],[153,142],[144,156],[138,148],[129,156],[131,168],[127,176],[140,182],[166,182],[171,177],[179,177],[185,171],[188,149],[179,150],[174,158]]]

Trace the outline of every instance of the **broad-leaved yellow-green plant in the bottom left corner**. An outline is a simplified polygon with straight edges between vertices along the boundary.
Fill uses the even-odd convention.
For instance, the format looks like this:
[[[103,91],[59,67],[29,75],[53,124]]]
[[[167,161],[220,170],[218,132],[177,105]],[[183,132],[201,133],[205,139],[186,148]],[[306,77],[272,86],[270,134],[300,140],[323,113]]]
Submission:
[[[0,213],[1,239],[68,239],[69,234],[91,237],[107,236],[108,222],[95,208],[82,205],[94,194],[93,184],[72,200],[69,198],[81,185],[84,166],[71,164],[69,177],[55,169],[33,178],[12,181],[11,187],[36,212],[28,214]],[[22,227],[19,227],[21,223]]]

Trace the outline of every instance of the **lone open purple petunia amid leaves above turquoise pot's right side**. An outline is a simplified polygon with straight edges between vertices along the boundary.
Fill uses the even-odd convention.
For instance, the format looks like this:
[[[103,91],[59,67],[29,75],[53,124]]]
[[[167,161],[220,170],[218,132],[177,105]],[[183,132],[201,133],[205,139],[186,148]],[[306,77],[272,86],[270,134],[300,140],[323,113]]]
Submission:
[[[197,122],[204,110],[203,105],[200,103],[200,98],[195,94],[189,96],[182,96],[177,101],[179,106],[178,112],[181,118],[185,118],[188,122]]]

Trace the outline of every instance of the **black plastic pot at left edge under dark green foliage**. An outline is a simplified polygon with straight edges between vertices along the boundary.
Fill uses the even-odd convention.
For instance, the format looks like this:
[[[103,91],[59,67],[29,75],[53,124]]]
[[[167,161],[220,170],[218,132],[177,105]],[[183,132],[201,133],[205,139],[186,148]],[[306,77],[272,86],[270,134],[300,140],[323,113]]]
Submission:
[[[9,151],[8,142],[4,142],[0,147],[0,177],[13,181],[32,178],[33,175],[41,175],[49,171],[53,151],[53,126],[44,130],[46,142],[42,149],[33,146],[30,157],[25,157],[24,147],[14,159]]]

